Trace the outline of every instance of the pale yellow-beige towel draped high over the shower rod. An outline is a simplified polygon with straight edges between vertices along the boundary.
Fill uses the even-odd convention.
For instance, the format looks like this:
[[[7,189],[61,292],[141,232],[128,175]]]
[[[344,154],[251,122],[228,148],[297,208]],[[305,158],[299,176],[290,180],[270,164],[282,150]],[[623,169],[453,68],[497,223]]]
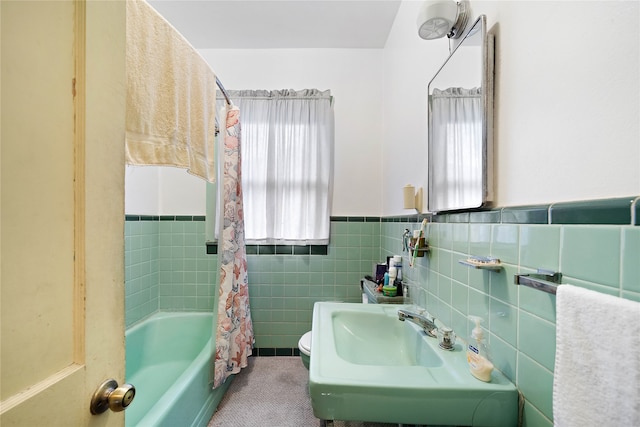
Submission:
[[[216,77],[144,1],[127,1],[126,160],[215,181]]]

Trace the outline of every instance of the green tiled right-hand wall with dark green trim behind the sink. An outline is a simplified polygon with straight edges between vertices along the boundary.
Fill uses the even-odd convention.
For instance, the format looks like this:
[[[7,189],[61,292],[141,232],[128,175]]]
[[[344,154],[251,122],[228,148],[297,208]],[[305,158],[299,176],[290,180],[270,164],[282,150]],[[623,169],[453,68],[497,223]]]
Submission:
[[[603,206],[620,209],[609,218]],[[427,226],[428,257],[404,269],[420,290],[414,296],[459,335],[469,334],[469,314],[485,319],[496,367],[525,397],[526,426],[553,425],[555,295],[516,286],[514,275],[560,271],[563,283],[640,301],[640,228],[629,216],[636,207],[629,206],[629,199],[562,204],[555,223],[544,215],[550,206],[495,210],[490,223],[486,213],[437,216]],[[407,227],[418,224],[382,222],[383,255],[400,253]],[[504,269],[457,262],[470,255],[498,257]]]

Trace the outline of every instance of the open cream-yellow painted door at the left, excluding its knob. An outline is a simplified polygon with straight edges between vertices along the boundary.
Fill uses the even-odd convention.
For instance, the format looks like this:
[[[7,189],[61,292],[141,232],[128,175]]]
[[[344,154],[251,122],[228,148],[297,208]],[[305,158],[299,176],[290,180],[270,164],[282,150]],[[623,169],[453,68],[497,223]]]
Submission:
[[[0,2],[0,425],[122,426],[125,4]]]

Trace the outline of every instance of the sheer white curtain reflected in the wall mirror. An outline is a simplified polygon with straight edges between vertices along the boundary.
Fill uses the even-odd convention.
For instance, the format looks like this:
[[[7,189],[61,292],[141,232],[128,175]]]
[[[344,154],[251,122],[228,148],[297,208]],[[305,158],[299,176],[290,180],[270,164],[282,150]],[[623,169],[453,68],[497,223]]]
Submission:
[[[482,92],[480,88],[434,89],[431,132],[435,141],[435,164],[446,165],[445,174],[435,176],[434,185],[446,188],[438,206],[472,206],[482,194]]]

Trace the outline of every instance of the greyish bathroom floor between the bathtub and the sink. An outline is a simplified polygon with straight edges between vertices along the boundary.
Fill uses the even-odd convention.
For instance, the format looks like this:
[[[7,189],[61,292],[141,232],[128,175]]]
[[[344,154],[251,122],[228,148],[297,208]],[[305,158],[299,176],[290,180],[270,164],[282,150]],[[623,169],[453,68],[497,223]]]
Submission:
[[[308,378],[299,357],[250,357],[249,366],[231,383],[208,427],[319,426],[311,408]],[[398,425],[335,421],[333,427]]]

